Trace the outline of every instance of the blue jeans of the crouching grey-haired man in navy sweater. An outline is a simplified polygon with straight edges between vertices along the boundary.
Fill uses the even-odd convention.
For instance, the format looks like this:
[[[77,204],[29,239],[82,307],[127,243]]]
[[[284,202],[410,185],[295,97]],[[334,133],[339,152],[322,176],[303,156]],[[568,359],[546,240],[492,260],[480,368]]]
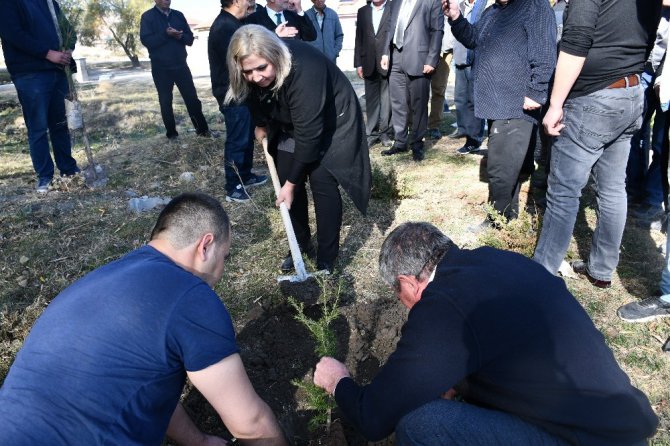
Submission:
[[[452,400],[436,400],[408,413],[395,434],[400,446],[568,444],[517,416]]]

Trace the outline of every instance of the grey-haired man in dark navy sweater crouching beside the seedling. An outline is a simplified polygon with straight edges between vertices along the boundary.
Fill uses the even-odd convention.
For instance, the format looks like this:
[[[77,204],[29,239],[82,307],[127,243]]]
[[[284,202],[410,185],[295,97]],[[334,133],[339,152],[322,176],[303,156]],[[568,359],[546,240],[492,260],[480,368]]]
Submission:
[[[410,309],[366,386],[324,357],[314,383],[369,440],[398,444],[643,445],[658,419],[562,280],[530,259],[461,250],[428,223],[382,245]],[[462,399],[463,401],[457,401]]]

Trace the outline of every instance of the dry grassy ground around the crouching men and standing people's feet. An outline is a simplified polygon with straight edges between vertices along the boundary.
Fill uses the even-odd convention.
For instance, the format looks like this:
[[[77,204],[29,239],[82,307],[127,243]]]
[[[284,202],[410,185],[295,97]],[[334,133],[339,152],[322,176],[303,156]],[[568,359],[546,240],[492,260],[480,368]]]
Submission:
[[[213,129],[223,131],[209,83],[202,79],[197,86]],[[169,197],[197,189],[224,198],[223,141],[201,140],[187,131],[190,122],[178,95],[175,112],[182,118],[182,136],[176,143],[168,143],[163,136],[150,77],[87,86],[81,99],[94,155],[107,169],[109,184],[99,190],[74,184],[68,192],[38,196],[33,192],[35,179],[16,96],[13,91],[0,93],[0,378],[7,373],[35,319],[59,291],[145,243],[157,211],[129,211],[128,191]],[[445,119],[443,130],[449,130],[452,119]],[[379,247],[389,229],[404,221],[430,221],[461,246],[488,244],[532,253],[538,227],[533,213],[523,214],[499,232],[474,236],[466,230],[486,214],[487,185],[481,157],[455,155],[458,145],[447,138],[429,144],[428,156],[421,164],[407,155],[382,158],[380,146],[371,149],[374,199],[367,216],[360,216],[345,200],[337,264],[357,299],[372,301],[384,292],[377,277]],[[78,141],[75,156],[85,165]],[[264,171],[260,154],[256,165]],[[179,182],[185,171],[195,174],[194,183]],[[259,304],[281,297],[275,279],[287,244],[272,203],[272,191],[264,187],[253,191],[250,204],[225,204],[233,222],[233,252],[217,291],[238,329]],[[593,204],[587,197],[569,252],[572,257],[584,256],[588,249],[595,220]],[[670,364],[661,352],[670,326],[665,321],[625,324],[615,311],[619,305],[655,290],[662,266],[656,247],[663,241],[658,232],[628,227],[610,290],[596,290],[582,279],[566,280],[634,384],[649,396],[661,418],[653,442],[659,445],[670,444]]]

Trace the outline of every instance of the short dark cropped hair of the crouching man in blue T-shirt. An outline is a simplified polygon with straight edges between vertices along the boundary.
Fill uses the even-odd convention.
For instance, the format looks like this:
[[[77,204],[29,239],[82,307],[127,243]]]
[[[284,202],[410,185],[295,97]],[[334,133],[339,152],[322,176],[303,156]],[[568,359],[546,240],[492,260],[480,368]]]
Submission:
[[[230,219],[216,198],[200,192],[181,194],[170,201],[158,216],[151,240],[167,239],[176,249],[195,243],[207,233],[215,242],[230,239]]]

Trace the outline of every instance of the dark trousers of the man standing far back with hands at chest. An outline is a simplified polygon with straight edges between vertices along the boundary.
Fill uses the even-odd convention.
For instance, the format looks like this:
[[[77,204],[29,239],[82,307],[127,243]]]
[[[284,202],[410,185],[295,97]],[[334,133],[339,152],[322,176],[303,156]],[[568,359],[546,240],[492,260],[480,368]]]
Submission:
[[[193,127],[198,135],[204,135],[209,132],[207,120],[202,114],[202,104],[198,99],[198,93],[193,85],[193,76],[187,65],[180,68],[151,67],[151,75],[154,78],[154,84],[158,91],[158,102],[161,107],[161,116],[165,124],[166,136],[171,138],[179,135],[174,120],[174,111],[172,110],[172,90],[175,84],[179,89],[186,110],[191,117]]]

